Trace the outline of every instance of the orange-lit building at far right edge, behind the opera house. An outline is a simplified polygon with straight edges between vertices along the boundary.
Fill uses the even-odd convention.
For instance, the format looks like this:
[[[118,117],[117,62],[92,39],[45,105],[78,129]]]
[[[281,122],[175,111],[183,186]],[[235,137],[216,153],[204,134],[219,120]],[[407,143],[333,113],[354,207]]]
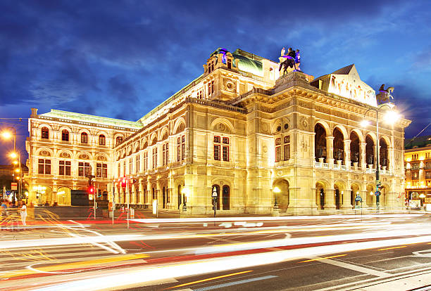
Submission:
[[[431,136],[406,140],[406,199],[411,206],[431,204]]]

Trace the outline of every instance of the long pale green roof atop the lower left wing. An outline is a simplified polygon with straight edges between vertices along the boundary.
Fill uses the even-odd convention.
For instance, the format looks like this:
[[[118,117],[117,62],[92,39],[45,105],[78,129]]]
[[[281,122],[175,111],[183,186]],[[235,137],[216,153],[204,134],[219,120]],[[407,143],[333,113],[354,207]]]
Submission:
[[[51,112],[46,112],[44,114],[40,114],[39,116],[68,119],[68,120],[73,120],[78,122],[89,122],[89,123],[95,123],[95,124],[101,124],[101,125],[107,125],[107,126],[113,126],[113,127],[127,127],[129,129],[142,128],[142,124],[140,122],[131,122],[128,120],[115,119],[115,118],[109,118],[109,117],[100,117],[96,115],[87,115],[82,113],[55,110],[55,109],[51,109]]]

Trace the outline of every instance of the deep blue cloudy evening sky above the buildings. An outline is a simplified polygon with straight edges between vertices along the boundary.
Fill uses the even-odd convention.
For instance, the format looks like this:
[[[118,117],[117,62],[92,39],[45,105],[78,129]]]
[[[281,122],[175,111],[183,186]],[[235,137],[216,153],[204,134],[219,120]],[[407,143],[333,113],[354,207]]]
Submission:
[[[394,86],[411,138],[431,122],[430,12],[425,0],[1,0],[0,127],[15,127],[25,151],[30,108],[136,121],[216,48],[277,61],[285,46],[308,75],[354,63],[376,91]],[[0,140],[2,163],[10,148]]]

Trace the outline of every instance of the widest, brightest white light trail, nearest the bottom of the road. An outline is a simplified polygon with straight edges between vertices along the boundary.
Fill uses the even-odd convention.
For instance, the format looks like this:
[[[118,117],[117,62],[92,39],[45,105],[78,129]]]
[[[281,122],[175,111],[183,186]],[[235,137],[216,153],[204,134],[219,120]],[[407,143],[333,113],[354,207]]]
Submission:
[[[319,247],[307,247],[296,250],[282,250],[277,252],[265,252],[258,254],[244,254],[234,257],[207,259],[205,261],[191,261],[187,264],[173,264],[169,266],[153,266],[149,268],[137,268],[129,271],[121,270],[120,273],[104,275],[102,278],[76,279],[67,283],[59,283],[35,290],[104,290],[127,286],[136,286],[148,281],[164,280],[168,278],[179,278],[185,276],[196,276],[204,273],[217,273],[234,269],[245,269],[265,264],[276,264],[282,261],[301,259],[304,257],[320,257],[337,252],[352,252],[356,250],[367,250],[376,247],[387,247],[389,245],[404,245],[406,243],[428,243],[431,235],[416,238],[396,238],[391,240],[373,240],[362,243],[344,243],[337,245],[325,245]],[[173,275],[175,274],[175,275]],[[396,275],[394,275],[396,276]]]

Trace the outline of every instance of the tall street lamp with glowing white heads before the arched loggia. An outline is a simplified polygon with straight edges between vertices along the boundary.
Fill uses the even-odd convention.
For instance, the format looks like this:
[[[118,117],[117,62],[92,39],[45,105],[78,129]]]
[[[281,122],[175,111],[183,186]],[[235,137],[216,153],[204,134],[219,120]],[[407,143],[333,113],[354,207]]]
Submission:
[[[375,111],[375,128],[377,131],[377,150],[376,150],[376,169],[375,169],[375,206],[377,207],[377,209],[379,208],[380,205],[380,160],[379,160],[379,152],[380,152],[380,138],[379,138],[379,112],[380,110],[382,110],[382,108],[389,108],[389,111],[386,112],[385,114],[385,121],[387,123],[393,124],[394,122],[396,122],[396,119],[399,118],[399,116],[396,114],[396,112],[394,112],[392,110],[392,108],[394,108],[394,104],[392,103],[385,103],[385,104],[380,104],[377,106],[377,108],[368,108],[368,110],[365,112],[365,114],[363,115],[364,120],[363,122],[361,122],[362,127],[366,127],[370,124],[370,122],[368,122],[368,120],[366,120],[366,115],[370,110]]]

